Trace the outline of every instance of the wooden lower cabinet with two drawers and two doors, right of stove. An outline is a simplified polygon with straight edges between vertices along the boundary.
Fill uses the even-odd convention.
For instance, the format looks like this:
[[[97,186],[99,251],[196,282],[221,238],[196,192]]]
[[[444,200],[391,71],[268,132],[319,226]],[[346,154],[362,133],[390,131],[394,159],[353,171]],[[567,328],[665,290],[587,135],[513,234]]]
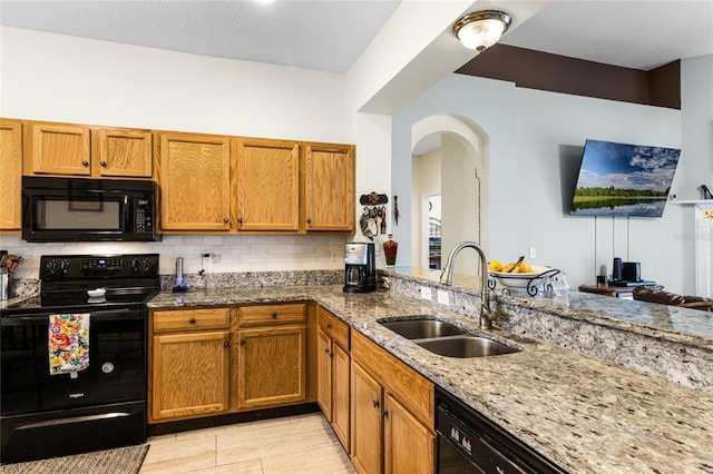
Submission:
[[[148,422],[314,402],[309,326],[305,303],[153,309]]]

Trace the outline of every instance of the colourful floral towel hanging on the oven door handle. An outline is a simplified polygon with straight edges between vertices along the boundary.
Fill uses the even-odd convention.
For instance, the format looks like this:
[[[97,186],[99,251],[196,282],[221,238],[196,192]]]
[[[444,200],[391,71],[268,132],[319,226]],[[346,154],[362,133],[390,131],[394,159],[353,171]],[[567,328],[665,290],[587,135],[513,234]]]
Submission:
[[[48,352],[50,375],[89,367],[89,314],[49,315]]]

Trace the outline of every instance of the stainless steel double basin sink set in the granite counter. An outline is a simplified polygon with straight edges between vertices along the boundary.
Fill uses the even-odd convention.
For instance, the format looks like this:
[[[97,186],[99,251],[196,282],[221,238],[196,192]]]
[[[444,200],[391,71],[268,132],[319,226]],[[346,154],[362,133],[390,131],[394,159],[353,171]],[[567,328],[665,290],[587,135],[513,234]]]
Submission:
[[[476,336],[453,324],[424,317],[380,320],[379,324],[434,354],[446,357],[487,357],[520,349],[488,337]]]

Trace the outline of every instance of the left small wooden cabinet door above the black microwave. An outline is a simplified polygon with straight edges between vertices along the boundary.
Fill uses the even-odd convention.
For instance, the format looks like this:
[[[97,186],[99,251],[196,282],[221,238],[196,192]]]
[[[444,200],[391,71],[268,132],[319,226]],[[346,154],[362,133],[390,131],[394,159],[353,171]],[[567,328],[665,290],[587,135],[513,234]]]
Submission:
[[[90,131],[68,124],[29,122],[25,174],[89,176]]]

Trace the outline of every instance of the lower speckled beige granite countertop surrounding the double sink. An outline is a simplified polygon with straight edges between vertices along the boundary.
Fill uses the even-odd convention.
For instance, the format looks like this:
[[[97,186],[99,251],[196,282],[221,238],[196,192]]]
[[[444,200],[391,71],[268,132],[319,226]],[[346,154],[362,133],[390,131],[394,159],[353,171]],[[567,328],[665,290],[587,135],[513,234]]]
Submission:
[[[149,307],[309,299],[324,305],[354,329],[569,472],[713,473],[711,394],[504,329],[482,332],[476,319],[418,299],[393,293],[352,295],[344,294],[341,286],[315,285],[186,294],[165,292],[156,296]],[[569,307],[561,310],[584,313],[578,305],[589,304],[586,297],[578,303],[577,295],[569,299]],[[597,299],[596,303],[606,302]],[[530,304],[553,305],[537,299]],[[632,310],[632,317],[637,317],[634,313]],[[381,318],[407,315],[439,317],[476,334],[509,342],[522,350],[482,358],[442,357],[378,323]],[[612,324],[628,324],[637,330],[671,332],[671,337],[678,334],[674,329],[649,328],[645,322],[643,326],[637,322]],[[710,343],[702,339],[705,338],[693,336],[691,340]]]

